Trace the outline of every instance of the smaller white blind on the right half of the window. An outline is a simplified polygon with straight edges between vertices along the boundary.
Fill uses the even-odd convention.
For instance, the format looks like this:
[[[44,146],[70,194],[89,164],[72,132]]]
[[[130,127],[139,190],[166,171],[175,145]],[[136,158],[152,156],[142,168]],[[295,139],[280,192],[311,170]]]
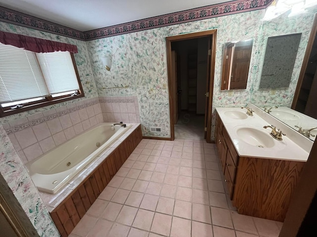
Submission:
[[[69,52],[37,53],[36,55],[51,94],[79,90]]]

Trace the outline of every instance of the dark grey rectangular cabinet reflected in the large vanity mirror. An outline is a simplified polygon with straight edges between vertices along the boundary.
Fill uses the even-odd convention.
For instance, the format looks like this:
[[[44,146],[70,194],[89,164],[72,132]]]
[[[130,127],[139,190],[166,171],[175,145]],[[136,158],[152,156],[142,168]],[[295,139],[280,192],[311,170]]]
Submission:
[[[267,38],[260,89],[289,86],[301,36]]]

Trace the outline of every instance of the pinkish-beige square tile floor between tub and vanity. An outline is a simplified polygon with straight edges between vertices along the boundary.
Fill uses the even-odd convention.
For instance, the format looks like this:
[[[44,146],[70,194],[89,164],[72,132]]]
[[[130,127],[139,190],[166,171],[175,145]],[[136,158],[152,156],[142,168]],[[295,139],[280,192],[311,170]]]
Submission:
[[[278,237],[232,207],[213,144],[143,139],[70,237]]]

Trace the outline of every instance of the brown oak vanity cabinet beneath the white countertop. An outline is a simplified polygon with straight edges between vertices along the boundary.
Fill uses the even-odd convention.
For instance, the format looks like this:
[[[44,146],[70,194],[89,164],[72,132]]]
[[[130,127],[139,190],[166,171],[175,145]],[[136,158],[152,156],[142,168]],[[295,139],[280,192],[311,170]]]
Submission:
[[[216,115],[215,142],[232,204],[239,214],[284,221],[305,162],[241,157]]]

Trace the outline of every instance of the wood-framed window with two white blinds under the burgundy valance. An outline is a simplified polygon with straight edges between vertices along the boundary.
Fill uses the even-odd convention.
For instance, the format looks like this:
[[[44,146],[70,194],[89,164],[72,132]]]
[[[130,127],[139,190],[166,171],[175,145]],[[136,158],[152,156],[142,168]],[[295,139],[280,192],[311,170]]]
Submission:
[[[0,43],[0,117],[83,96],[72,53]]]

